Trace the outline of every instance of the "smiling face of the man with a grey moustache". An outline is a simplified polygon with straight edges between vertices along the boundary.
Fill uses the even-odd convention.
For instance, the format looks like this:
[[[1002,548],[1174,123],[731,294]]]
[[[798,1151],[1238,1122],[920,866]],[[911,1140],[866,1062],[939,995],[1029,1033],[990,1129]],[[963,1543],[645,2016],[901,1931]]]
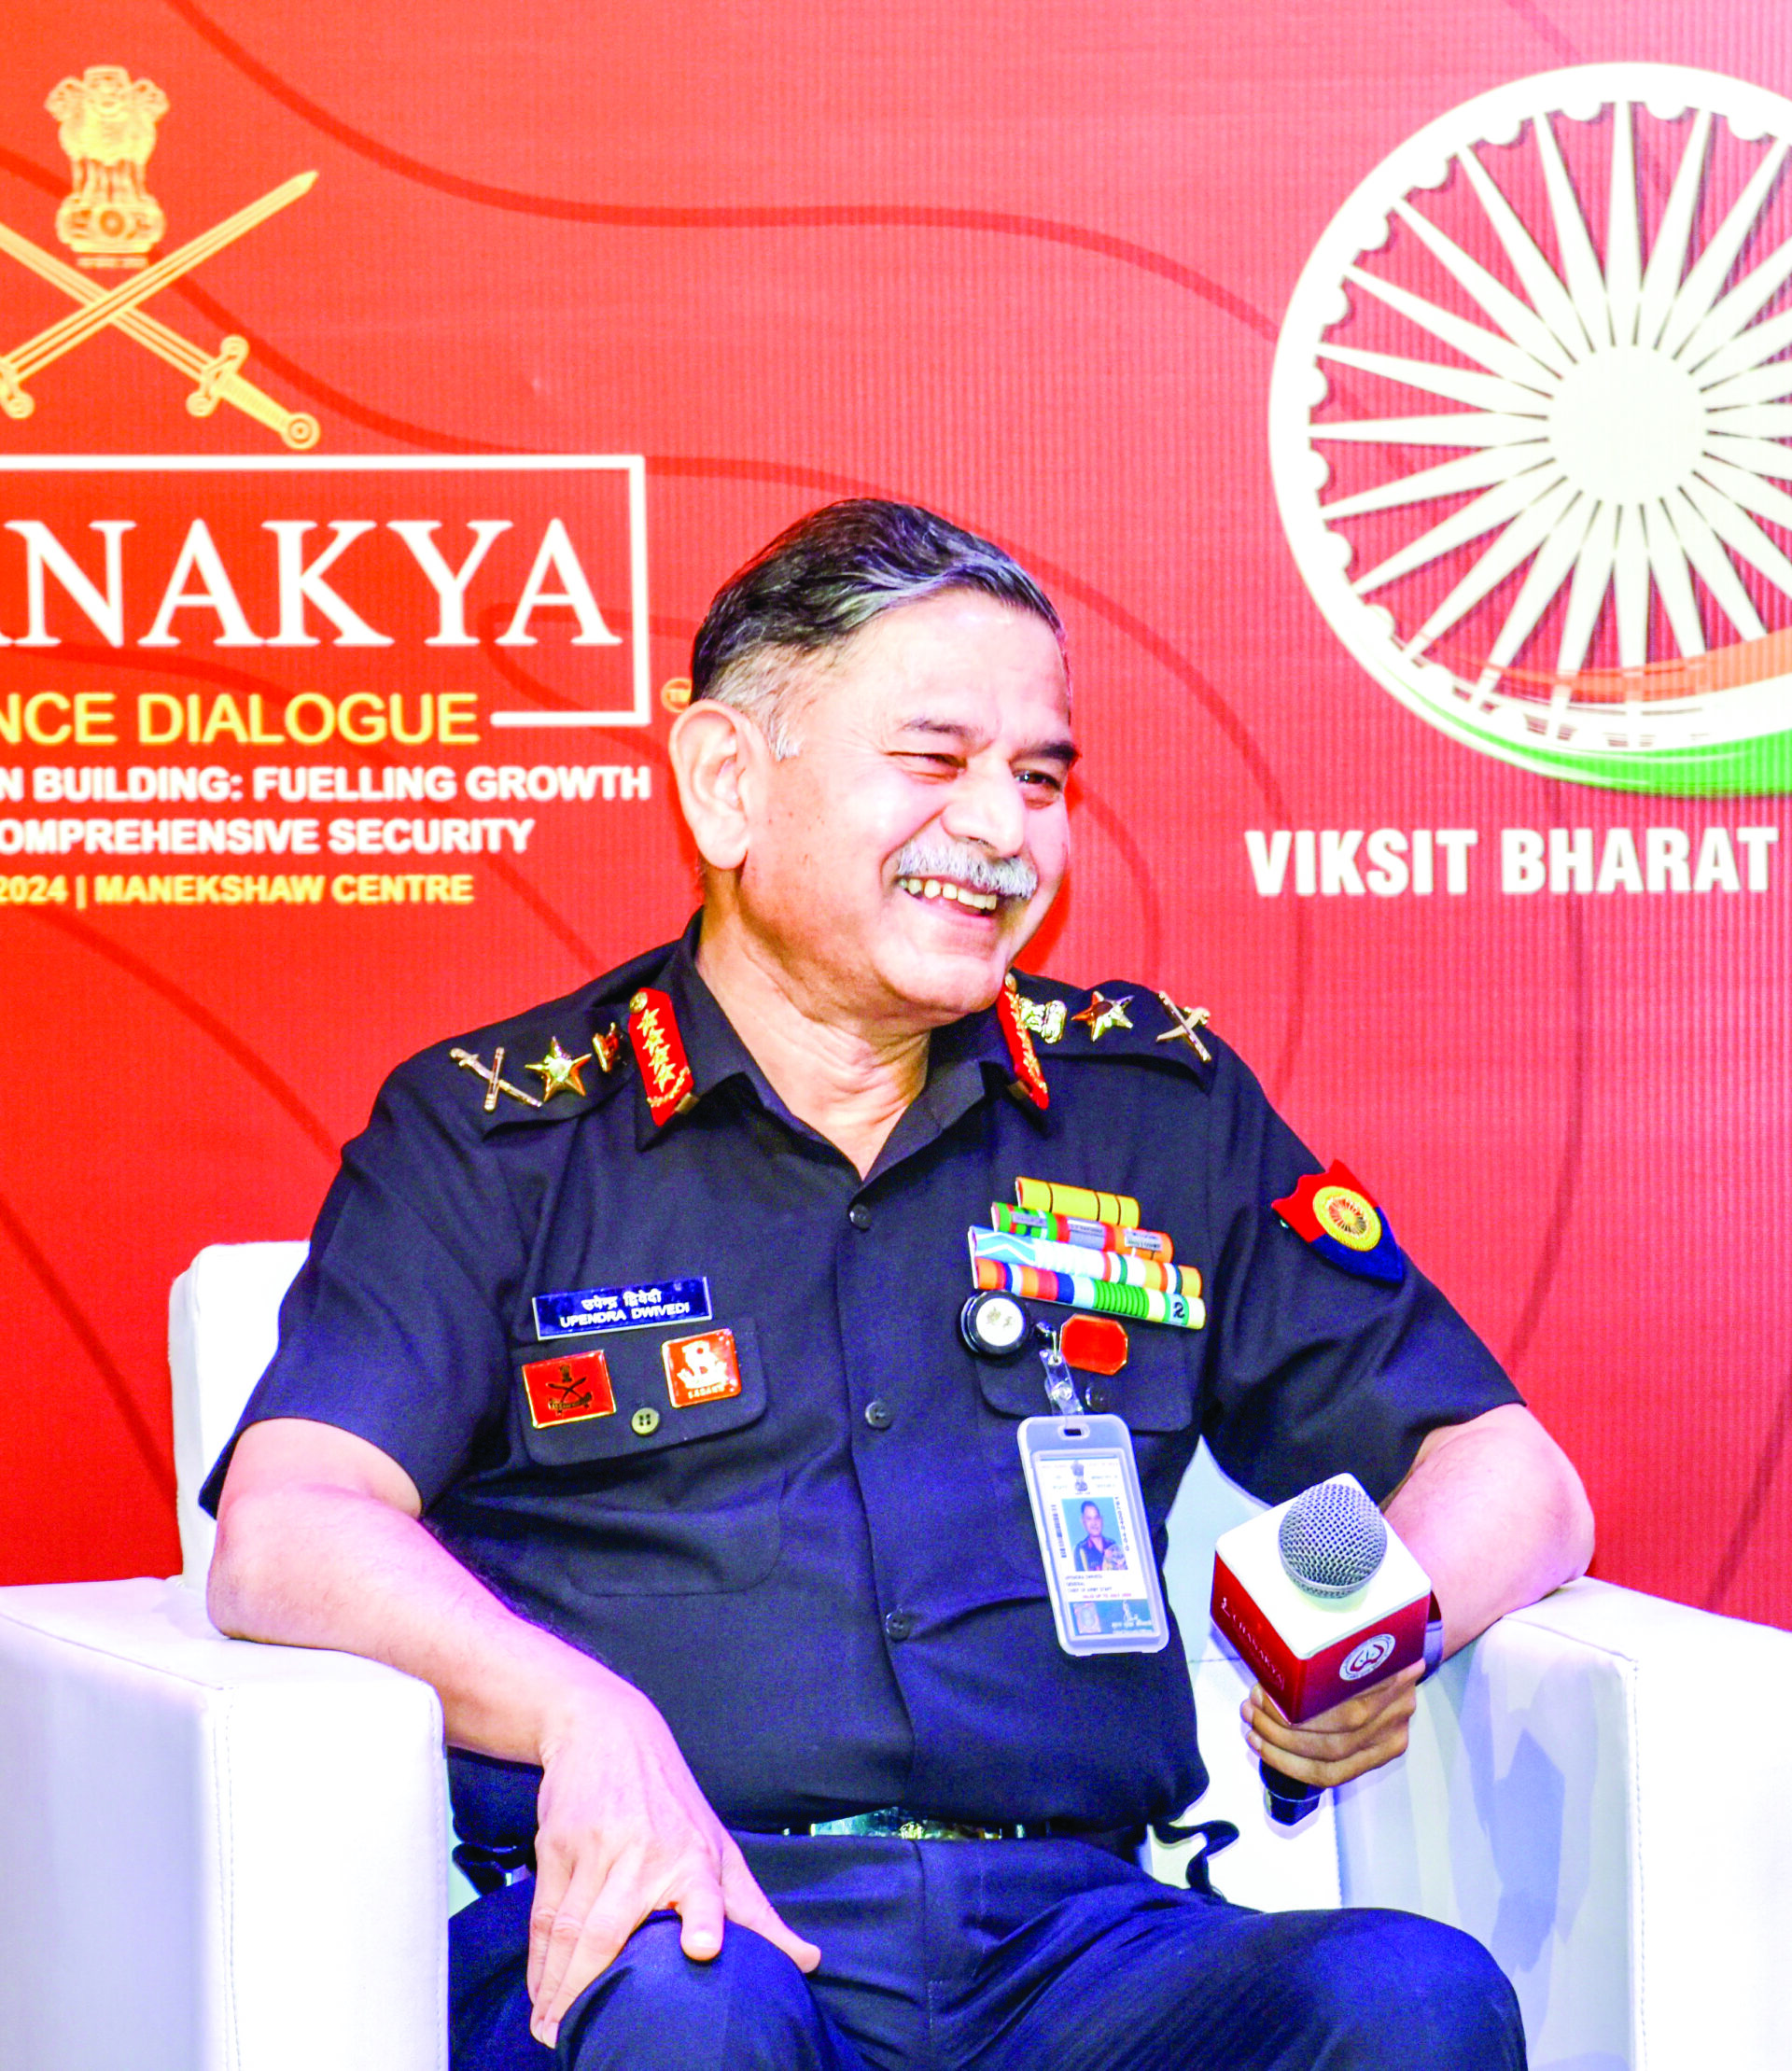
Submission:
[[[988,1007],[1069,864],[1057,636],[945,590],[804,673],[798,754],[756,758],[742,922],[812,1015],[918,1031]]]

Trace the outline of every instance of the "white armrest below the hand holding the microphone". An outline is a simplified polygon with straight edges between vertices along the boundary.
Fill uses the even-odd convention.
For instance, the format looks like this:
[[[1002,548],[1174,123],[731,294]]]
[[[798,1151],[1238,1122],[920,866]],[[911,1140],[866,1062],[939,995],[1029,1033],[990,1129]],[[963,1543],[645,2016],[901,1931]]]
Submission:
[[[1608,1582],[1502,1617],[1336,1793],[1347,1905],[1479,1936],[1533,2071],[1786,2061],[1792,1636]]]

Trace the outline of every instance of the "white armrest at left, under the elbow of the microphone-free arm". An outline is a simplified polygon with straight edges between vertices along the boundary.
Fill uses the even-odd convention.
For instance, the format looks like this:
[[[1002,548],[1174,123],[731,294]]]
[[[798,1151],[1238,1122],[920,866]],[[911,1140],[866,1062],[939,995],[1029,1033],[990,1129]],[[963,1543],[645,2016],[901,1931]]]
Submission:
[[[441,2071],[441,1709],[178,1582],[0,1591],[10,2071]]]

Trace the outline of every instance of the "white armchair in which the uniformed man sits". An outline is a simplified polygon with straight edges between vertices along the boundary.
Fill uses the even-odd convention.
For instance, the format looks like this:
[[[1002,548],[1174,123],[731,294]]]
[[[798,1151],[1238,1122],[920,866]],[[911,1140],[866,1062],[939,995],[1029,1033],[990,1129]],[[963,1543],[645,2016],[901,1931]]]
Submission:
[[[182,1576],[0,1591],[0,2063],[437,2071],[445,1856],[435,1694],[205,1620],[207,1464],[302,1245],[201,1251],[170,1357]],[[1249,1905],[1407,1905],[1512,1978],[1535,2071],[1769,2071],[1792,1918],[1792,1636],[1577,1582],[1421,1692],[1405,1760],[1287,1835],[1206,1617],[1253,1508],[1202,1454],[1170,1520],[1214,1785]],[[1175,1858],[1158,1864],[1175,1874]]]

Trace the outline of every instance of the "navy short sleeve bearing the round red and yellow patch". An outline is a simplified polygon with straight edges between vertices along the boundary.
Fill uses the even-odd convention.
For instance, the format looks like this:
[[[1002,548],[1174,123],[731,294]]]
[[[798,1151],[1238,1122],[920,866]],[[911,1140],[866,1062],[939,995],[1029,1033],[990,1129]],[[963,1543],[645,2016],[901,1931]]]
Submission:
[[[1386,1501],[1429,1431],[1523,1398],[1411,1259],[1388,1286],[1332,1265],[1276,1216],[1270,1203],[1322,1160],[1214,1048],[1204,1435],[1266,1501],[1340,1472]]]

